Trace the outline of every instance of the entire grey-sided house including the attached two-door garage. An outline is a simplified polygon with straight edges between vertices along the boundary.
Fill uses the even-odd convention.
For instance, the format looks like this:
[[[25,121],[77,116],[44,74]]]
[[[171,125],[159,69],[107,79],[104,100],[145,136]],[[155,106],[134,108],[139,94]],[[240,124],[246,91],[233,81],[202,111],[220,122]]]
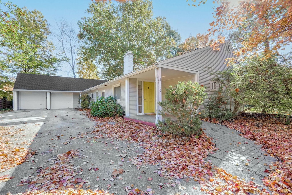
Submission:
[[[135,120],[146,114],[155,115],[157,122],[161,120],[158,102],[164,100],[165,88],[169,85],[191,80],[206,86],[208,94],[218,90],[219,84],[206,67],[215,71],[224,70],[227,68],[225,59],[234,56],[229,40],[220,44],[219,48],[215,51],[206,46],[135,71],[133,54],[127,51],[124,55],[124,75],[109,81],[18,74],[13,89],[14,109],[76,108],[79,106],[79,93],[82,92],[88,93],[93,101],[101,96],[114,96],[124,109],[126,119]],[[37,77],[39,80],[35,80]]]

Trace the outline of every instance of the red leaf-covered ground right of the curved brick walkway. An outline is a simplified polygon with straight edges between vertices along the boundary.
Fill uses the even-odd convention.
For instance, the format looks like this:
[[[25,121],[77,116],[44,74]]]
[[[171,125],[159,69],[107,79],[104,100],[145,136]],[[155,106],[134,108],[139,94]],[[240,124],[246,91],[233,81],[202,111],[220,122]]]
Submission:
[[[262,145],[262,150],[280,161],[270,165],[270,175],[263,180],[274,194],[292,194],[292,117],[274,114],[246,113],[239,119],[225,121],[223,125],[242,132],[242,136]]]

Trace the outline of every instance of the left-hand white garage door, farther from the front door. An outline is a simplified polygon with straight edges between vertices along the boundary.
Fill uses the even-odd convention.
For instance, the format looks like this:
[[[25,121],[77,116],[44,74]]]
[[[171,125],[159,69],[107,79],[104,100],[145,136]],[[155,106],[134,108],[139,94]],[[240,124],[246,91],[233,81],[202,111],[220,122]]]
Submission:
[[[45,109],[46,92],[20,92],[19,109]]]

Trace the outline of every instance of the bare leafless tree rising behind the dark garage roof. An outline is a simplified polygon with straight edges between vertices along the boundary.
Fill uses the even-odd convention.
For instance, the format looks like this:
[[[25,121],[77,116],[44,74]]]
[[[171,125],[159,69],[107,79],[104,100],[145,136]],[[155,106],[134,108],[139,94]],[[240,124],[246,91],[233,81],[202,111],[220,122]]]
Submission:
[[[75,70],[77,49],[79,47],[77,33],[75,32],[72,24],[68,24],[68,22],[64,19],[57,23],[57,31],[58,33],[54,34],[54,37],[60,42],[62,54],[65,56],[65,61],[71,68],[70,72],[75,78],[77,74]]]

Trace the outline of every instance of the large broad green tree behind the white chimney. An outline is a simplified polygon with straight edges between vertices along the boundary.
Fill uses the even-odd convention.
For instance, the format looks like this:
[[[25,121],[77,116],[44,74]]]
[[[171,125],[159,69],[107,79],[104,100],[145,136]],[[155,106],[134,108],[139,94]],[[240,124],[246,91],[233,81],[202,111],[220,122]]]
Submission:
[[[148,0],[98,1],[87,9],[90,17],[79,21],[82,55],[97,59],[103,78],[123,74],[123,56],[133,51],[134,70],[171,57],[175,46],[165,18],[152,18]]]

